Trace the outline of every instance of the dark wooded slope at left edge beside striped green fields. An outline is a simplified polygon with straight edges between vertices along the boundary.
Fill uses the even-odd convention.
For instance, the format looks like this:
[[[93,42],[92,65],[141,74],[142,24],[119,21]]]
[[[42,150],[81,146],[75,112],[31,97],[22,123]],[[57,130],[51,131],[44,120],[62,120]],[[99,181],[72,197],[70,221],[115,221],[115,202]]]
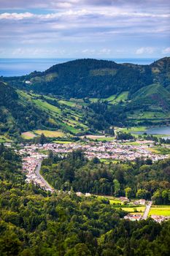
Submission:
[[[50,127],[49,116],[7,83],[0,82],[1,135],[18,136],[21,132]]]

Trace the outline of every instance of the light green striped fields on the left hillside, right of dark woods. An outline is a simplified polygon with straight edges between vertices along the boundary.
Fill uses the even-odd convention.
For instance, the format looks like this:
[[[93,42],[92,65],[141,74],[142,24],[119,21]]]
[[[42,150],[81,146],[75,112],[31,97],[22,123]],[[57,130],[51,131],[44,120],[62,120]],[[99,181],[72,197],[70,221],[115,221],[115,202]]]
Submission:
[[[39,94],[31,94],[26,93],[24,91],[18,91],[20,95],[20,102],[30,101],[33,102],[36,107],[41,110],[44,110],[54,124],[57,124],[61,127],[62,130],[65,132],[71,132],[72,134],[77,134],[78,132],[82,132],[88,129],[87,125],[82,122],[82,105],[81,102],[69,101],[69,100],[61,100],[56,99],[58,101],[58,107],[46,102],[45,99],[54,100],[53,97],[45,96],[45,99],[41,99]],[[42,131],[40,130],[40,133]],[[39,131],[34,132],[34,134],[39,134]],[[62,137],[63,132],[61,131],[54,131],[54,132],[47,132],[44,130],[45,135],[47,137]],[[62,134],[61,134],[62,133]],[[29,134],[23,134],[23,138],[30,137]]]

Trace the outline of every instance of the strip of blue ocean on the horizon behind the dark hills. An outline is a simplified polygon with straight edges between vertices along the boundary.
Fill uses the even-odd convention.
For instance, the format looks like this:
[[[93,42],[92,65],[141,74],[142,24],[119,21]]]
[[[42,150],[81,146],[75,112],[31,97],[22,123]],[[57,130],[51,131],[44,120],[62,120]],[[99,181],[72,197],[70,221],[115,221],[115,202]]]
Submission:
[[[75,58],[77,59],[77,58]],[[157,59],[106,59],[117,63],[151,64]],[[20,76],[33,71],[45,71],[49,67],[74,59],[0,59],[0,76]]]

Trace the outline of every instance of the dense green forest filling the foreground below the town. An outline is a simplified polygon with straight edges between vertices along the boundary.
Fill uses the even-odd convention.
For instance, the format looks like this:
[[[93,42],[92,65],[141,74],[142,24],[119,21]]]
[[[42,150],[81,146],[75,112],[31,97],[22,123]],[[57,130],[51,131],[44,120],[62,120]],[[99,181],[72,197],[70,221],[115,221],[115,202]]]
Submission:
[[[87,162],[74,157],[77,167]],[[20,157],[1,145],[0,255],[169,255],[170,222],[129,222],[107,201],[66,192],[50,195],[26,184],[20,167]]]

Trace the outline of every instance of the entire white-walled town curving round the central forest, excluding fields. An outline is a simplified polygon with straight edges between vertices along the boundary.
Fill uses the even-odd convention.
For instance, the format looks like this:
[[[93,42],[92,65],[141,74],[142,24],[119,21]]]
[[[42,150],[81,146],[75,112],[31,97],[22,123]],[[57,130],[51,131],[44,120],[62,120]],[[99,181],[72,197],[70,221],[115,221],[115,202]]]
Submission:
[[[23,172],[26,173],[26,181],[28,183],[33,182],[42,189],[46,191],[55,192],[55,189],[50,186],[50,184],[45,181],[45,178],[41,176],[39,170],[41,168],[42,159],[47,158],[48,152],[53,151],[54,154],[66,155],[69,152],[80,149],[84,151],[85,156],[88,159],[93,159],[97,157],[98,159],[111,159],[117,161],[127,161],[134,160],[136,158],[143,157],[144,159],[152,159],[156,161],[158,159],[165,159],[169,155],[153,154],[149,149],[152,148],[153,142],[148,140],[138,140],[133,145],[129,141],[124,141],[120,143],[119,141],[113,140],[111,142],[86,142],[86,143],[45,143],[32,144],[22,146],[19,150],[19,154],[23,159]],[[71,192],[69,192],[71,193]],[[77,192],[77,196],[91,196],[90,193],[82,194],[82,192]],[[127,197],[119,198],[123,203],[129,202]],[[125,219],[129,220],[140,220],[147,219],[152,202],[147,202],[146,200],[136,200],[134,205],[144,206],[145,211],[143,214],[140,213],[129,213],[125,216]],[[152,219],[156,222],[163,222],[169,219],[169,217],[163,217],[161,215],[152,215]]]

